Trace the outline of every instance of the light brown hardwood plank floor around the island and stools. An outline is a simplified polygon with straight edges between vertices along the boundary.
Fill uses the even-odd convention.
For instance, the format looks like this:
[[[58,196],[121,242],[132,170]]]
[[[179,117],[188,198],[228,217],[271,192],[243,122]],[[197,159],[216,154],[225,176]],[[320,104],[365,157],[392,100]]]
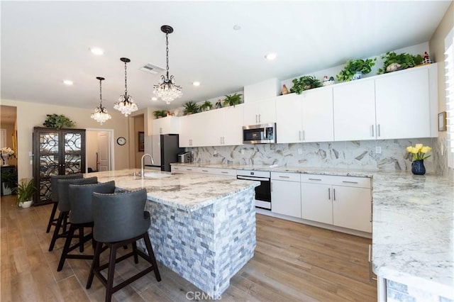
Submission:
[[[85,289],[90,260],[69,259],[57,272],[64,242],[57,240],[48,252],[53,228],[48,234],[45,228],[51,206],[18,209],[13,198],[2,196],[0,202],[1,302],[104,301],[105,289],[98,279]],[[377,301],[376,283],[369,282],[370,242],[257,215],[255,255],[233,276],[221,301]],[[86,252],[92,252],[88,242]],[[139,258],[137,265],[146,264]],[[159,269],[161,282],[152,272],[114,293],[112,300],[196,300],[199,289],[162,264]],[[136,271],[132,259],[117,264],[114,284]]]

